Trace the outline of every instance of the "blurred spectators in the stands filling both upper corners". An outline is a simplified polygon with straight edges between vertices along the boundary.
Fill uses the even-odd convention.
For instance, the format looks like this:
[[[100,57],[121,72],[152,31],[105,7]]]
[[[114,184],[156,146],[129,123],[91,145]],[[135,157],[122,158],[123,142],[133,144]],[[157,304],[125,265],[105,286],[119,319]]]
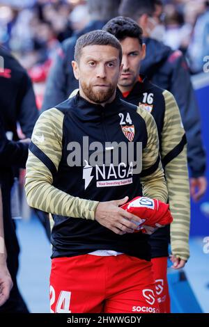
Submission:
[[[209,1],[165,0],[164,5],[152,37],[183,51],[191,72],[201,72],[209,54]],[[85,0],[1,0],[0,44],[31,70],[34,81],[43,81],[59,43],[88,21]]]

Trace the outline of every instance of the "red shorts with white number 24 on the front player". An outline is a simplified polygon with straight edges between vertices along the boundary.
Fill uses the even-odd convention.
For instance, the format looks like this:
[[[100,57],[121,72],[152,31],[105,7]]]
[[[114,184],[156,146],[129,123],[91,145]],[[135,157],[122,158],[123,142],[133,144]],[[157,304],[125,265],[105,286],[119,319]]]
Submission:
[[[151,267],[125,254],[52,259],[51,312],[159,312]]]

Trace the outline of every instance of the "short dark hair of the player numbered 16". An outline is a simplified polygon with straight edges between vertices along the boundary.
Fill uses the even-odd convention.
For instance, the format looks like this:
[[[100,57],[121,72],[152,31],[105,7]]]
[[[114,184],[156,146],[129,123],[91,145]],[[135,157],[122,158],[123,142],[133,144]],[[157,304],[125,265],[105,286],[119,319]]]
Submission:
[[[134,22],[133,19],[129,17],[115,17],[109,20],[109,22],[107,22],[102,29],[114,35],[119,41],[123,41],[125,38],[130,37],[137,38],[140,45],[143,43],[143,30],[136,22]]]

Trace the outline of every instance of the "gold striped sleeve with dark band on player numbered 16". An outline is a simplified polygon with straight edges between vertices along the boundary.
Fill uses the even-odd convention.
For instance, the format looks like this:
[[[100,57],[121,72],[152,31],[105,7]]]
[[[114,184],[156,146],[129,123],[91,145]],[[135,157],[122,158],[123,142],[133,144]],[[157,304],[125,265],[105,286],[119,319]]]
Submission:
[[[171,251],[176,257],[188,260],[190,201],[185,130],[173,95],[167,90],[163,95],[166,110],[162,130],[162,163],[173,216]]]

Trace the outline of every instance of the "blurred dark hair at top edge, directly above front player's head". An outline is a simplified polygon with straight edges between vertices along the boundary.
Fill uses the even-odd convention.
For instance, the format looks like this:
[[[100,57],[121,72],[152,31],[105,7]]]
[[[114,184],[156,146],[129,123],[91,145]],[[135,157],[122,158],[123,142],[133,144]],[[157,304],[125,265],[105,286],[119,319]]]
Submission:
[[[91,19],[108,21],[118,16],[121,0],[87,0]]]

